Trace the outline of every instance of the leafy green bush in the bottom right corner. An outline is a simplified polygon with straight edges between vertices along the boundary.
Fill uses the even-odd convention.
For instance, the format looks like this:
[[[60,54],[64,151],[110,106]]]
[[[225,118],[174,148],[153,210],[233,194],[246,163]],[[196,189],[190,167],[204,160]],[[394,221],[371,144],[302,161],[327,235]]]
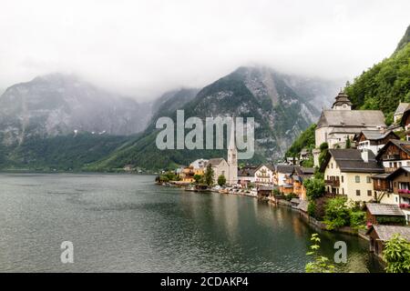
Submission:
[[[410,242],[396,234],[384,245],[385,271],[387,273],[410,273]]]

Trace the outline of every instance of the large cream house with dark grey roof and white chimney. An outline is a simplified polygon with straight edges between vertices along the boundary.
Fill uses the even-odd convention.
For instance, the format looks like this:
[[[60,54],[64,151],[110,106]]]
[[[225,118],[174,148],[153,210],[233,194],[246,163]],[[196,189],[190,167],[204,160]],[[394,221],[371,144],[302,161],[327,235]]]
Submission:
[[[327,192],[364,202],[374,200],[372,176],[384,173],[373,152],[350,148],[329,149],[320,170],[324,174]]]

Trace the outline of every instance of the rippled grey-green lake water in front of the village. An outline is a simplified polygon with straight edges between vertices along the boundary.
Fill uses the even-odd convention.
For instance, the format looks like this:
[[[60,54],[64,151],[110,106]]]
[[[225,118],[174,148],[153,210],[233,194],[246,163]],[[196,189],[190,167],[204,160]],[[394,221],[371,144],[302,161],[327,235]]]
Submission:
[[[314,232],[292,209],[245,196],[153,185],[153,176],[0,175],[3,272],[303,272]],[[367,243],[344,240],[339,271],[379,271]],[[74,264],[60,245],[74,244]]]

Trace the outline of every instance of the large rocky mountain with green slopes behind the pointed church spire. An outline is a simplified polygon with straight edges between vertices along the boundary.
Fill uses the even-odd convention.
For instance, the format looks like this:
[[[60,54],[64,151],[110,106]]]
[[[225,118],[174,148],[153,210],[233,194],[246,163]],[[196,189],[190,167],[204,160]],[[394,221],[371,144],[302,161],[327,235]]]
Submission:
[[[327,95],[328,92],[337,90],[333,82],[319,84],[316,79],[282,75],[267,67],[240,67],[202,88],[185,105],[165,106],[167,110],[159,110],[150,124],[154,125],[158,116],[176,120],[177,109],[184,110],[185,119],[224,115],[254,117],[256,153],[253,162],[273,161],[281,157],[293,139],[317,119],[319,108],[330,102],[332,95]],[[186,98],[189,99],[188,96]],[[168,101],[172,104],[172,98]],[[128,164],[150,169],[170,168],[187,165],[198,157],[226,155],[224,150],[160,151],[155,145],[158,132],[149,126],[135,143],[121,147],[88,169],[104,170]]]

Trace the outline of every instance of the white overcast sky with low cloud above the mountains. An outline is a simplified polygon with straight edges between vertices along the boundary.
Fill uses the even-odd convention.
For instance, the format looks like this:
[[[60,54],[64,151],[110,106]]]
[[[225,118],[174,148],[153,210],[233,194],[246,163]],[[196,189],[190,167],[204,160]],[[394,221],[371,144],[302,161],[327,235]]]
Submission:
[[[395,50],[410,1],[0,3],[0,88],[73,73],[139,99],[240,65],[353,78]]]

